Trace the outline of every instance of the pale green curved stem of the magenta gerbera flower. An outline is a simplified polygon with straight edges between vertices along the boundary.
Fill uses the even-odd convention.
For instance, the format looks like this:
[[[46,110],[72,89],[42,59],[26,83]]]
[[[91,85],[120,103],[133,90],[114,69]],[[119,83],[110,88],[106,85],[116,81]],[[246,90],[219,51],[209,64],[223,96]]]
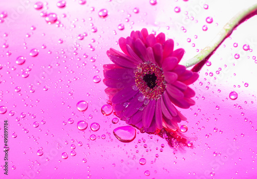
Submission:
[[[186,68],[188,68],[198,64],[201,61],[207,60],[238,25],[240,25],[241,23],[246,21],[246,19],[256,14],[257,14],[257,4],[237,13],[234,17],[230,19],[230,21],[223,27],[223,29],[219,31],[219,33],[216,35],[216,37],[212,40],[212,42],[207,47],[201,50],[193,58],[189,59],[186,62],[182,62],[180,65],[183,65]],[[200,63],[200,64],[201,66],[204,65],[203,63]]]

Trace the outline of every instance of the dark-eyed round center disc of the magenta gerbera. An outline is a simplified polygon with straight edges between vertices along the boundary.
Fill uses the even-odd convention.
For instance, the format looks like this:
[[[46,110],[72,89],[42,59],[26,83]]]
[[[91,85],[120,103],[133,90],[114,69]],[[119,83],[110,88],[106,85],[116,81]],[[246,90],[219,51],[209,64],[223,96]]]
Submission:
[[[158,100],[166,89],[162,69],[151,62],[144,62],[134,73],[139,91],[150,100]]]

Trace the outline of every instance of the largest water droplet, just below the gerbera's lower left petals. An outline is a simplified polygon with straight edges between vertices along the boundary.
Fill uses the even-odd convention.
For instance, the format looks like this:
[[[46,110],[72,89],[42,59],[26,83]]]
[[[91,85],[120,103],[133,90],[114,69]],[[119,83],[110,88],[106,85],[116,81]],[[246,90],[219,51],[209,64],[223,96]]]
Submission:
[[[132,142],[136,137],[136,129],[132,126],[122,126],[114,129],[113,131],[116,138],[121,142]]]

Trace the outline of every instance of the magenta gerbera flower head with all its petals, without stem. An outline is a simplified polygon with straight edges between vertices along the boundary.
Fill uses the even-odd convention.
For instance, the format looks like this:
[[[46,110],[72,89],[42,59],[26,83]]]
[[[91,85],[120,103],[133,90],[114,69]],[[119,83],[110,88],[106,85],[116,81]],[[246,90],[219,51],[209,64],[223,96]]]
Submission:
[[[163,33],[149,35],[146,29],[121,37],[119,45],[124,53],[111,48],[107,55],[114,64],[103,66],[105,92],[116,114],[145,132],[176,129],[187,118],[174,105],[195,104],[195,92],[188,85],[199,76],[178,65],[184,50],[173,51],[172,39],[166,41]]]

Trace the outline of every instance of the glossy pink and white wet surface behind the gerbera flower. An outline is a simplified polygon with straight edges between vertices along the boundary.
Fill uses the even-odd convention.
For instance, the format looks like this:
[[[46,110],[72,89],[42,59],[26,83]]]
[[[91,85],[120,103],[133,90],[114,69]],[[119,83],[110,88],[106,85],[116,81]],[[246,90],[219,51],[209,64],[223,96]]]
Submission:
[[[179,125],[188,126],[185,135],[193,141],[193,149],[176,151],[159,136],[139,130],[133,142],[122,143],[113,130],[125,126],[125,122],[113,124],[115,115],[101,113],[107,98],[102,66],[111,63],[106,50],[111,47],[120,50],[119,37],[142,28],[164,32],[178,43],[175,49],[186,50],[182,59],[186,60],[208,45],[234,14],[253,5],[254,0],[233,3],[172,0],[157,1],[155,6],[148,0],[88,0],[85,5],[67,0],[65,8],[58,8],[58,1],[42,1],[42,10],[58,15],[58,22],[52,25],[40,16],[42,10],[33,8],[35,2],[0,2],[0,12],[8,13],[0,23],[0,106],[7,108],[5,114],[0,114],[0,144],[4,145],[4,120],[8,120],[10,147],[8,176],[3,171],[4,152],[0,152],[1,178],[257,177],[257,61],[253,57],[257,56],[257,16],[237,27],[210,58],[212,65],[205,66],[191,85],[196,91],[196,105],[181,109],[188,122]],[[209,9],[203,8],[205,4]],[[179,13],[174,11],[176,6],[181,9]],[[139,13],[133,12],[135,7]],[[105,18],[98,15],[103,8],[108,11]],[[206,22],[208,16],[213,18],[213,23]],[[119,24],[124,24],[124,30],[118,29]],[[202,30],[204,25],[208,26],[207,31]],[[31,26],[36,29],[31,30]],[[97,32],[91,32],[93,27],[97,27]],[[87,36],[79,40],[78,35],[85,32]],[[58,42],[60,38],[63,43]],[[9,45],[7,48],[3,47],[5,43]],[[243,50],[244,44],[252,52]],[[35,57],[29,55],[33,48],[39,50]],[[239,59],[234,58],[236,53],[240,54]],[[18,56],[26,57],[23,65],[15,63]],[[96,61],[90,62],[93,58]],[[221,71],[216,74],[218,68]],[[23,71],[28,71],[29,76],[22,77]],[[100,83],[93,82],[96,75],[101,77]],[[21,87],[20,92],[15,92],[17,86]],[[34,92],[30,92],[31,88]],[[229,98],[231,91],[238,93],[234,101]],[[81,100],[88,102],[85,112],[76,107]],[[13,116],[9,115],[10,111],[15,112]],[[26,113],[24,118],[22,112]],[[75,122],[69,124],[69,118]],[[88,123],[84,132],[77,128],[81,120]],[[39,127],[33,127],[34,122]],[[100,124],[97,132],[90,130],[90,124],[95,122]],[[13,133],[17,137],[12,137]],[[97,136],[95,141],[90,140],[91,134]],[[103,134],[105,139],[101,138]],[[78,142],[83,145],[79,146]],[[76,156],[70,155],[71,144],[76,145]],[[42,156],[37,154],[40,149],[44,152]],[[62,158],[63,152],[69,155],[67,159]],[[146,159],[145,165],[139,164],[142,157]],[[83,158],[86,163],[82,162]],[[149,176],[144,174],[147,170]]]

